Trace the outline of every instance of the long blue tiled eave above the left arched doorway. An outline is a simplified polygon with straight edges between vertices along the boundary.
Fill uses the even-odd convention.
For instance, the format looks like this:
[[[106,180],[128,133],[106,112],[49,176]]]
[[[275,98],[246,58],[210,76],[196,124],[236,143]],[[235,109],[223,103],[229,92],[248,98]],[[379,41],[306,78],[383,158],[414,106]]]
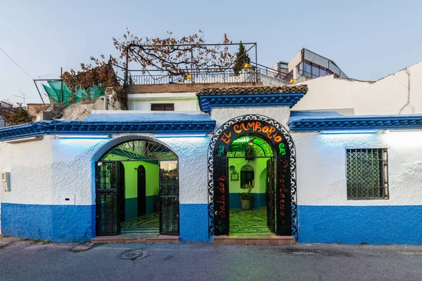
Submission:
[[[0,141],[42,135],[111,133],[211,133],[215,120],[204,114],[90,115],[84,121],[54,120],[0,129]]]

